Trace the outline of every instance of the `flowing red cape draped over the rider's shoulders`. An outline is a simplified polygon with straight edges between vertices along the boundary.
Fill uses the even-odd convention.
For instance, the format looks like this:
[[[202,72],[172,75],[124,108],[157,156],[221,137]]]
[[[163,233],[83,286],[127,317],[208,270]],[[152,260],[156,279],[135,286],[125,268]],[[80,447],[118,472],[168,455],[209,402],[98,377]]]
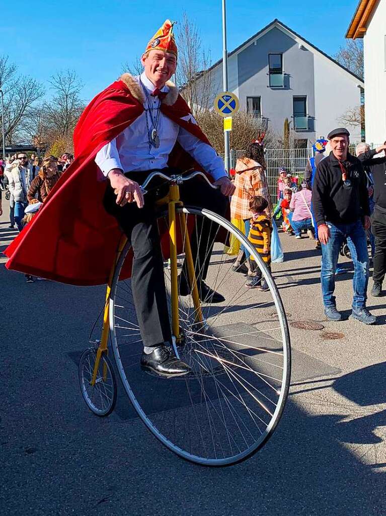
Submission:
[[[105,181],[94,162],[96,153],[118,136],[143,112],[142,103],[128,86],[117,80],[99,93],[81,115],[74,131],[75,160],[50,192],[31,222],[4,251],[8,269],[73,285],[108,282],[115,251],[122,235],[102,200]],[[161,111],[190,133],[209,143],[198,125],[182,120],[191,111],[180,95]],[[200,167],[176,144],[170,166],[186,170]],[[121,278],[131,272],[126,260]]]

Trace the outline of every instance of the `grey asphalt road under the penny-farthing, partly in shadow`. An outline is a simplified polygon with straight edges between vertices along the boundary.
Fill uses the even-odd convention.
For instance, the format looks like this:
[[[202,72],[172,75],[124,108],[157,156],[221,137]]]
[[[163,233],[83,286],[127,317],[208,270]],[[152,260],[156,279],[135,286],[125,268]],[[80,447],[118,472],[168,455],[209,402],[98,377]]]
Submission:
[[[7,204],[0,217],[0,251]],[[0,507],[19,515],[268,516],[386,513],[385,298],[370,299],[374,327],[323,321],[320,255],[307,238],[282,236],[274,265],[291,328],[293,380],[274,436],[253,458],[225,469],[185,462],[116,410],[95,417],[78,386],[77,361],[103,304],[103,287],[27,284],[0,264]],[[4,262],[4,260],[3,260]],[[347,262],[349,268],[350,264]],[[352,272],[339,277],[349,314]],[[328,332],[343,333],[330,340]]]

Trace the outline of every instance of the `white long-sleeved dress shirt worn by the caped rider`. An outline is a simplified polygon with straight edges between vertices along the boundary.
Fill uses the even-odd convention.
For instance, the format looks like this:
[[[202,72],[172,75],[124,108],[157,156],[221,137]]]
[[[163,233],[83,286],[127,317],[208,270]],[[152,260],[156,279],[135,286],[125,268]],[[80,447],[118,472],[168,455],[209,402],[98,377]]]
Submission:
[[[153,119],[157,116],[160,106],[158,96],[151,96],[155,90],[154,84],[146,77],[145,73],[134,77],[137,83],[140,80],[149,93],[149,103],[152,109]],[[141,86],[142,87],[142,86]],[[169,88],[164,86],[161,91],[167,92]],[[147,108],[147,102],[144,105]],[[193,117],[192,121],[195,123]],[[154,128],[152,118],[147,115],[149,132]],[[96,154],[95,163],[107,176],[113,168],[119,168],[123,172],[134,172],[150,169],[161,169],[167,167],[167,159],[175,146],[176,141],[199,163],[203,169],[210,173],[214,180],[226,176],[224,163],[216,151],[207,143],[204,143],[189,131],[180,127],[170,118],[159,111],[157,133],[160,139],[160,146],[156,149],[150,146],[146,125],[146,111],[144,111],[132,124],[130,124],[120,135],[107,143]]]

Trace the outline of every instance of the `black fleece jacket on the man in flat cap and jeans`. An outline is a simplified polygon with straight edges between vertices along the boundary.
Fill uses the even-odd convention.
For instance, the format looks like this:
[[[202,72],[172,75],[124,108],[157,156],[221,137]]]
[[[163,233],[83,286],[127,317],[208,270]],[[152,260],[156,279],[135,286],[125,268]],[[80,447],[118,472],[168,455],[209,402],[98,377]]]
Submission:
[[[316,224],[352,224],[370,216],[366,176],[361,162],[347,154],[343,163],[351,186],[343,184],[339,161],[331,152],[318,164],[312,187],[312,207]]]

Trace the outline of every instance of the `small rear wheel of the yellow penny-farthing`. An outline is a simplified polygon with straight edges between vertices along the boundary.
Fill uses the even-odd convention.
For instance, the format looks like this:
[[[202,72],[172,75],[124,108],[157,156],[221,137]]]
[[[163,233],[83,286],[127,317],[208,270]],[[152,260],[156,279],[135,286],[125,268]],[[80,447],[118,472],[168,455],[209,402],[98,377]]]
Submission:
[[[88,348],[79,360],[80,391],[86,405],[99,417],[108,416],[114,410],[116,403],[116,380],[112,363],[106,353],[99,360],[95,384],[91,384],[96,349]]]

